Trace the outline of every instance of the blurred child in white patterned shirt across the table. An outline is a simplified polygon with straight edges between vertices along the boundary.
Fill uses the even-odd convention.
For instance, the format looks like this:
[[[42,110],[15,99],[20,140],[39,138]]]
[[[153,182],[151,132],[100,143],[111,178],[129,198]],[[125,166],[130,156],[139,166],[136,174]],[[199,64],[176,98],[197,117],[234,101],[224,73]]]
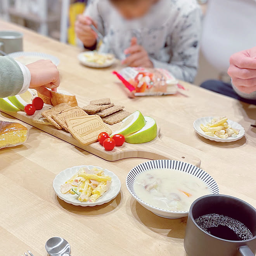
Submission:
[[[78,16],[76,35],[94,50],[114,54],[131,67],[157,67],[193,82],[201,37],[201,8],[196,0],[91,0]]]

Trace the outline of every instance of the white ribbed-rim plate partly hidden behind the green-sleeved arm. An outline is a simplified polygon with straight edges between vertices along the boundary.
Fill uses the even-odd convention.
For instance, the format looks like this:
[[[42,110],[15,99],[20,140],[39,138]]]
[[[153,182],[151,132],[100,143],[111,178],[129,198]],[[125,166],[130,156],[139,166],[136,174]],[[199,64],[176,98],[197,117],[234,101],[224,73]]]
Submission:
[[[56,66],[59,65],[60,60],[50,54],[42,52],[12,52],[8,56],[14,58],[16,61],[21,62],[23,65],[28,65],[32,62],[43,60],[51,60]]]

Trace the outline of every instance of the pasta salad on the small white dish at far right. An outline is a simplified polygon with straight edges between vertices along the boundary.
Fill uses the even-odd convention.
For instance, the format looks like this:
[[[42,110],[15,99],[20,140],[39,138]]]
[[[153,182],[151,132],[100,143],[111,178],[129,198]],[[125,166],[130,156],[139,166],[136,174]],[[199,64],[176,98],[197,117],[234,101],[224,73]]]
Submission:
[[[213,118],[211,122],[207,123],[205,126],[200,125],[200,128],[208,136],[214,137],[216,135],[219,138],[226,139],[228,137],[237,137],[239,130],[232,128],[227,123],[227,117]]]

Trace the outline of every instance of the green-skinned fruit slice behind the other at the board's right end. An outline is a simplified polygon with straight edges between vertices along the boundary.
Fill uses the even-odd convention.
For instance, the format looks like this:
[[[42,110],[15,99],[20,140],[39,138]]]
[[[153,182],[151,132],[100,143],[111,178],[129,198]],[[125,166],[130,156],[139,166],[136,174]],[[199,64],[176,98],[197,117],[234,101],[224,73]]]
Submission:
[[[135,111],[130,116],[125,118],[125,121],[121,125],[121,128],[118,131],[115,131],[111,137],[115,134],[128,135],[131,133],[135,133],[142,129],[146,124],[146,120],[140,111]]]

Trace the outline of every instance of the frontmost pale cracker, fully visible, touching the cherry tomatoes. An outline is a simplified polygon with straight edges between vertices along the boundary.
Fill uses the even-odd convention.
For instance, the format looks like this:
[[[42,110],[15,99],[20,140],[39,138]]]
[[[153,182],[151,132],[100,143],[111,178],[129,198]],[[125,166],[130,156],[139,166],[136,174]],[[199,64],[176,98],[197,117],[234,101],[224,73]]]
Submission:
[[[80,116],[66,119],[68,131],[83,145],[96,142],[99,133],[105,131],[111,135],[111,129],[97,116]]]

